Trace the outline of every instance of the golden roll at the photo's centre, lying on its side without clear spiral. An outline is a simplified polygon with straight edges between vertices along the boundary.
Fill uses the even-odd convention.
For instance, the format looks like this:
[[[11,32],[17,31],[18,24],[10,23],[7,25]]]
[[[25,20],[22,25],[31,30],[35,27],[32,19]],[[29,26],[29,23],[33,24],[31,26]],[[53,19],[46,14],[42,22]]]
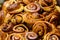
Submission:
[[[28,24],[34,24],[36,21],[40,21],[40,15],[38,13],[25,13],[23,15],[23,20]]]

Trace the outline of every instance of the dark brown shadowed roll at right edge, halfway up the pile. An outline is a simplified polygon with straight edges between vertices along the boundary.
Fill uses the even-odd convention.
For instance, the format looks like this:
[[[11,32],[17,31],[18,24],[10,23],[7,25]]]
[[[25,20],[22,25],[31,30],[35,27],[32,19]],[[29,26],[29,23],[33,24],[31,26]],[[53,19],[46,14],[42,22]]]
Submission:
[[[45,17],[45,21],[53,23],[54,25],[58,25],[60,20],[59,17],[60,17],[60,13],[55,10]]]

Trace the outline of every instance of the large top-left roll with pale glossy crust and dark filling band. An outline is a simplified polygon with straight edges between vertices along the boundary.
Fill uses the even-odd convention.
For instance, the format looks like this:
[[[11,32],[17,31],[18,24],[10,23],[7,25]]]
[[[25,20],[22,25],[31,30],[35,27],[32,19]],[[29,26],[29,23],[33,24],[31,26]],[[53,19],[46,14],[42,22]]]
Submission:
[[[10,14],[19,13],[23,11],[23,4],[21,4],[21,2],[10,0],[4,3],[3,10],[5,12],[9,12]]]

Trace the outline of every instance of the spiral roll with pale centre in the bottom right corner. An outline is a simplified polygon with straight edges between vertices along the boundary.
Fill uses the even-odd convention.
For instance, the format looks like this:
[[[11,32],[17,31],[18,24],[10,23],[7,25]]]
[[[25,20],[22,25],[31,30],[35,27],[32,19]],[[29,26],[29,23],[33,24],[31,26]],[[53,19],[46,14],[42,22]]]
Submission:
[[[55,30],[55,31],[47,33],[44,36],[43,40],[59,40],[60,39],[59,37],[60,37],[60,32]]]

